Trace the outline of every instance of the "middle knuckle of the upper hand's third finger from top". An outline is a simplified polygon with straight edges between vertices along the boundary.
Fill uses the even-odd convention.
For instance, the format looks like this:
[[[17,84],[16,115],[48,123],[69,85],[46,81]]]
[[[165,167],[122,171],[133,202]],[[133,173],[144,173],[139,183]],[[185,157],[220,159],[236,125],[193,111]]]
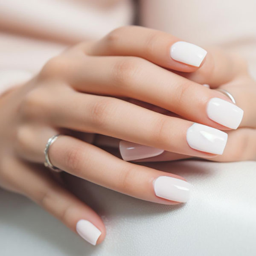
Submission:
[[[90,106],[90,120],[96,127],[104,128],[115,109],[115,100],[110,98],[100,99]]]

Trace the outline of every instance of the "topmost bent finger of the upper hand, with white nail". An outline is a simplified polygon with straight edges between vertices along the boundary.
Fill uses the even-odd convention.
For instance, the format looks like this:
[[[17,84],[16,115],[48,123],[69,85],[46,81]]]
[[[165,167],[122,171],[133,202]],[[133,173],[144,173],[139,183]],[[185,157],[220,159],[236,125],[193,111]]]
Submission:
[[[136,40],[134,40],[136,38]],[[115,29],[105,38],[81,48],[88,55],[137,56],[161,67],[183,72],[194,72],[203,63],[207,51],[184,42],[166,32],[140,26]]]

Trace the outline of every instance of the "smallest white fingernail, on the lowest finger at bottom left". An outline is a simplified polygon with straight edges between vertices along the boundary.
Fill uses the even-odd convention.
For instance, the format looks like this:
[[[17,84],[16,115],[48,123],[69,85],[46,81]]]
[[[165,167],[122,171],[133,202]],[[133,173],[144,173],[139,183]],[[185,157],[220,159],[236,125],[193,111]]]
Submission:
[[[85,241],[93,245],[96,245],[96,242],[101,235],[101,231],[87,220],[78,221],[76,224],[76,231]]]

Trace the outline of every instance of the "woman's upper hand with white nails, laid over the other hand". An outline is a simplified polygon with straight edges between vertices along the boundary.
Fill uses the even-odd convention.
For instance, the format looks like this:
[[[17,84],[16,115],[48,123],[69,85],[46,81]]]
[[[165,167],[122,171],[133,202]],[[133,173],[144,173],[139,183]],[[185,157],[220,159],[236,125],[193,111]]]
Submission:
[[[186,202],[190,185],[182,177],[120,160],[90,139],[103,134],[189,156],[222,154],[227,134],[218,129],[236,128],[242,111],[222,93],[169,71],[195,72],[204,61],[212,63],[211,54],[205,55],[172,35],[124,27],[52,58],[38,76],[0,99],[1,186],[31,198],[92,244],[103,241],[105,227],[96,212],[42,165],[47,140],[66,134],[49,148],[53,166],[135,198]],[[229,122],[207,115],[208,102],[216,98],[233,114]],[[87,133],[87,142],[75,138],[77,131]]]

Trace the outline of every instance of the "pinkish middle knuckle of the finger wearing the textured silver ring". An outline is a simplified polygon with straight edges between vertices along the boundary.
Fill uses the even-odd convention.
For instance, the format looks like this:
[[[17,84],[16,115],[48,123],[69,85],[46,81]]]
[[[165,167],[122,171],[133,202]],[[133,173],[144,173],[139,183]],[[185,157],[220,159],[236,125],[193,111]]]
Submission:
[[[81,172],[83,153],[81,148],[70,147],[64,152],[64,165],[79,176]]]

